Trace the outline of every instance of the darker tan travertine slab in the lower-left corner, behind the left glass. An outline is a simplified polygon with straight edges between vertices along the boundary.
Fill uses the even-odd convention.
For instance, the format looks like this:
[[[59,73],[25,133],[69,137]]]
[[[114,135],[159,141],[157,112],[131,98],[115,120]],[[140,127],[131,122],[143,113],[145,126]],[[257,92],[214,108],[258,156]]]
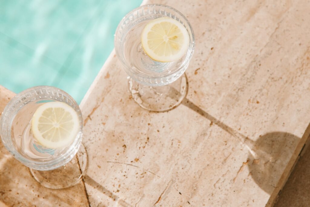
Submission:
[[[0,86],[0,115],[14,96]],[[62,190],[42,187],[0,142],[0,206],[88,206],[88,201],[82,182]]]

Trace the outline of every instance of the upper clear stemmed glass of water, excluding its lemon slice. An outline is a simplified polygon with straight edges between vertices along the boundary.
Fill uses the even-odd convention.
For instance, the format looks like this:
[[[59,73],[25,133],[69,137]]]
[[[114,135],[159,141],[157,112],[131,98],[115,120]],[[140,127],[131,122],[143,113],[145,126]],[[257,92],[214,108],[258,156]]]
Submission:
[[[141,46],[141,33],[150,20],[170,17],[184,25],[189,36],[188,50],[172,62],[151,59]],[[193,28],[176,9],[160,4],[148,4],[129,12],[119,23],[114,38],[115,52],[128,74],[128,89],[132,98],[144,109],[167,111],[178,106],[187,94],[184,74],[191,60],[195,37]]]

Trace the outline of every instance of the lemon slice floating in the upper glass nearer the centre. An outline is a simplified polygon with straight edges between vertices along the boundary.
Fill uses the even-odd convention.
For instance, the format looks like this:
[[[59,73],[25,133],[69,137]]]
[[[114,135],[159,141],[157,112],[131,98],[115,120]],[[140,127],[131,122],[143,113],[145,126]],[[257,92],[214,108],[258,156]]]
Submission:
[[[144,52],[153,60],[171,62],[179,60],[187,51],[189,35],[177,20],[161,17],[148,22],[141,35]]]

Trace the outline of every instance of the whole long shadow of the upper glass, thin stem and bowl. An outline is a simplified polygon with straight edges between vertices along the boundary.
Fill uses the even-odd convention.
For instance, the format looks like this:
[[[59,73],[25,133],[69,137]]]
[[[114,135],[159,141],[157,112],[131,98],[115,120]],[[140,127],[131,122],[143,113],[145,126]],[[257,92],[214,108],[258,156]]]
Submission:
[[[249,151],[247,165],[252,178],[260,188],[271,195],[292,156],[294,151],[292,148],[296,147],[300,138],[290,133],[272,132],[253,141],[202,110],[187,98],[184,98],[182,104],[236,137],[247,148]]]

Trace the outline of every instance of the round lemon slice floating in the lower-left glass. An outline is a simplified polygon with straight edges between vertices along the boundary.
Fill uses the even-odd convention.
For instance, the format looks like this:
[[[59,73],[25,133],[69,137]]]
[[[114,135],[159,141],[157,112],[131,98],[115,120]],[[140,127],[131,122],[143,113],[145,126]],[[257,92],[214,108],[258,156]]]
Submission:
[[[68,146],[78,134],[77,112],[68,104],[52,101],[39,106],[31,120],[33,137],[45,147]]]

